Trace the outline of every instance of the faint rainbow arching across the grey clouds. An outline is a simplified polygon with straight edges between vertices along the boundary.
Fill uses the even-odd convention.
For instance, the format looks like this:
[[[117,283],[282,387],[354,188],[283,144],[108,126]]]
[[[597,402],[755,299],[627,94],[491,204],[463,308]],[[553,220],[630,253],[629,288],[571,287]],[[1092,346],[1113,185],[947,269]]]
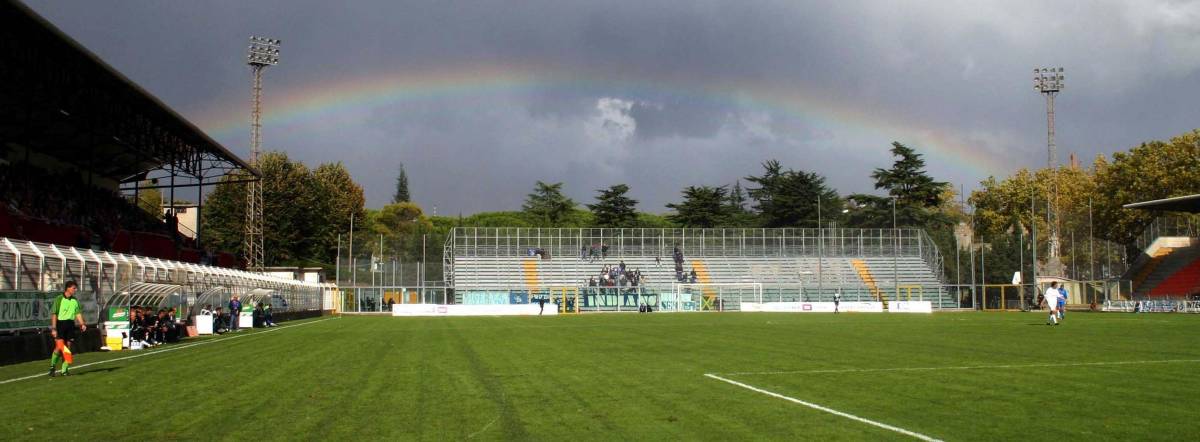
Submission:
[[[1012,168],[1012,163],[998,155],[966,145],[944,130],[923,126],[901,115],[880,115],[872,113],[872,109],[847,106],[836,97],[814,90],[791,85],[745,84],[744,80],[737,79],[697,80],[679,76],[638,76],[616,70],[584,71],[532,64],[390,70],[269,91],[263,124],[287,127],[336,120],[340,114],[364,107],[521,90],[586,90],[625,98],[630,97],[612,91],[700,97],[713,102],[734,103],[743,108],[780,112],[806,121],[848,127],[882,139],[898,139],[918,148],[918,151],[925,154],[926,160],[949,163],[973,172],[978,177]],[[241,107],[229,106],[233,100],[221,100],[221,102],[224,106],[200,112],[197,118],[198,125],[218,139],[232,139],[239,132],[248,133],[246,115],[242,112],[230,112]],[[863,149],[887,148],[887,145],[863,147]]]

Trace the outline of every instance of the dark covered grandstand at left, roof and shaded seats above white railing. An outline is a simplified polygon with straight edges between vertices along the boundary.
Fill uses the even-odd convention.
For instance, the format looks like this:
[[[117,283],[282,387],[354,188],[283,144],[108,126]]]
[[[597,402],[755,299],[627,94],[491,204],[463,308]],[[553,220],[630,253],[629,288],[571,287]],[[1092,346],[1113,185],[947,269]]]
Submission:
[[[236,265],[137,210],[146,187],[167,207],[259,173],[158,98],[23,5],[0,1],[0,235],[186,262]]]

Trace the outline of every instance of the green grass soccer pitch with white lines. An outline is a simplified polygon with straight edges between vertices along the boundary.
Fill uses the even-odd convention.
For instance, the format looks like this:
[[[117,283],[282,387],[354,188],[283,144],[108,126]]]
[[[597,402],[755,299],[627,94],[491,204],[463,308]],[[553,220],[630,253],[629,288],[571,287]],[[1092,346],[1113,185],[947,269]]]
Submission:
[[[1200,316],[1044,321],[978,312],[325,317],[82,354],[71,377],[46,378],[46,362],[0,368],[0,440],[1200,432]]]

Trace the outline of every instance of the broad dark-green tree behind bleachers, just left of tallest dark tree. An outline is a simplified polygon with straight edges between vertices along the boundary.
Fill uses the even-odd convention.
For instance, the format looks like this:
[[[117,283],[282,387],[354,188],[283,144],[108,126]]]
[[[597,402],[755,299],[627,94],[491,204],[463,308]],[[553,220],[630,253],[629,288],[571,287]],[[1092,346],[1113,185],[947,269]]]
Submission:
[[[815,227],[818,207],[827,220],[835,219],[841,211],[841,197],[826,185],[824,177],[785,171],[775,160],[764,162],[762,167],[762,175],[746,177],[746,181],[757,185],[750,187],[749,193],[763,227]]]

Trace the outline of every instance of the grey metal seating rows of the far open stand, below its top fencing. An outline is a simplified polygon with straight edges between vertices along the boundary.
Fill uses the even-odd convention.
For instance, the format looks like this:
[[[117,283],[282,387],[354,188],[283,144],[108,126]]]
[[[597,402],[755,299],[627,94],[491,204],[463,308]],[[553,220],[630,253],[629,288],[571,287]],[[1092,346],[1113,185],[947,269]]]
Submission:
[[[454,239],[451,239],[452,241]],[[602,259],[581,259],[578,246],[563,245],[560,253],[542,259],[527,256],[524,247],[512,255],[490,250],[486,256],[462,249],[448,257],[452,263],[449,280],[460,293],[529,292],[551,293],[562,288],[586,287],[589,277],[599,277],[605,264],[624,261],[626,269],[641,270],[643,289],[649,293],[670,293],[676,282],[674,264],[670,258],[655,263],[658,253],[610,255]],[[575,253],[566,252],[576,250]],[[452,249],[448,249],[448,253]],[[884,253],[872,256],[820,257],[815,249],[798,249],[786,253],[758,253],[712,250],[709,253],[684,257],[684,273],[696,270],[697,282],[713,285],[761,283],[766,300],[832,300],[841,293],[845,300],[924,299],[940,307],[955,307],[956,303],[942,291],[938,275],[926,258],[901,251],[898,257]],[[628,287],[626,287],[628,288]],[[706,293],[707,294],[707,293]]]

